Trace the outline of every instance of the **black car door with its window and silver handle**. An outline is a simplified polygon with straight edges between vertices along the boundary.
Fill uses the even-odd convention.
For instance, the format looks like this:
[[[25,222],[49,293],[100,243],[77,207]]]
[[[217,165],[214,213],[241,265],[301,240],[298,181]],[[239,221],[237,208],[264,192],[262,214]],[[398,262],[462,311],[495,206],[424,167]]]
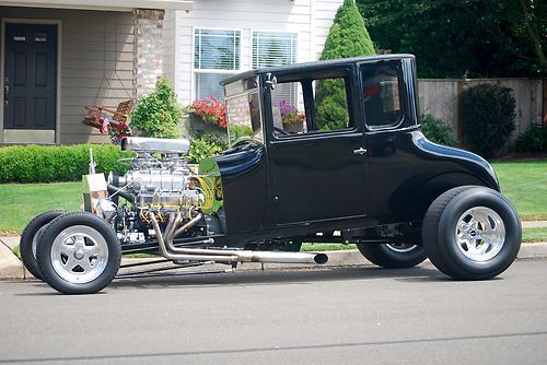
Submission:
[[[351,97],[357,90],[352,72],[279,75],[277,87],[265,92],[270,224],[366,214],[366,150],[358,99]],[[334,94],[341,97],[333,99]]]

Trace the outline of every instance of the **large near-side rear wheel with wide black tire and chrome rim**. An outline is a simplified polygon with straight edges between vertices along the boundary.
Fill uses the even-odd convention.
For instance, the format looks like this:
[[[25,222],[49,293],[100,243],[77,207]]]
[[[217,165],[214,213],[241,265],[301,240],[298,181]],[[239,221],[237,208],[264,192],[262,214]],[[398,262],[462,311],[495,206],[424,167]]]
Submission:
[[[478,222],[480,216],[486,224]],[[493,238],[488,238],[485,228]],[[515,260],[521,238],[514,208],[501,193],[485,187],[444,192],[430,205],[422,224],[423,247],[431,262],[457,280],[499,275]]]

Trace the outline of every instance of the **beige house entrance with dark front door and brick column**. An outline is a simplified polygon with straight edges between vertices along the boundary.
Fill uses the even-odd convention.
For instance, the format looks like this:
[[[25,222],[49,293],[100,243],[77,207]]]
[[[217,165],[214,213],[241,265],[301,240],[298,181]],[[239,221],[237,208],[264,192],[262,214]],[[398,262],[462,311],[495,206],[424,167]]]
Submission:
[[[0,143],[107,141],[80,122],[84,107],[153,89],[164,13],[190,9],[184,0],[0,0]]]

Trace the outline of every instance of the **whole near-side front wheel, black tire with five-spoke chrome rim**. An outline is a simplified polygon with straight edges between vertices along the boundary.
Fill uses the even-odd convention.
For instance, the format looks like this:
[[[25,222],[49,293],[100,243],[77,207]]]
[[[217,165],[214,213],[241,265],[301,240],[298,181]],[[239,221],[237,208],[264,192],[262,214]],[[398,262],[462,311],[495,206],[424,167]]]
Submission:
[[[118,272],[121,246],[114,228],[96,215],[78,212],[59,216],[39,242],[36,257],[42,276],[60,293],[100,292]]]

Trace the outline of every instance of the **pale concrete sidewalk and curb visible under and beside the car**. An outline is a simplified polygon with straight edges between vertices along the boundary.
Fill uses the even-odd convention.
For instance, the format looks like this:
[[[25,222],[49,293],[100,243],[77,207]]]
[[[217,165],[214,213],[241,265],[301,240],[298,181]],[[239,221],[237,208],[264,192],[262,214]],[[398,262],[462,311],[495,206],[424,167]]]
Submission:
[[[522,226],[526,228],[547,227],[547,221],[522,222]],[[19,245],[20,236],[0,237],[0,280],[10,279],[32,279],[23,267],[19,258],[13,255],[12,249]],[[326,252],[328,262],[322,267],[339,267],[352,264],[371,264],[358,250],[339,250]],[[547,243],[522,244],[521,250],[516,257],[523,259],[545,259],[547,258]],[[124,259],[124,261],[135,262],[138,259]],[[147,259],[142,259],[147,260]],[[276,270],[287,268],[316,267],[311,264],[284,264],[284,263],[245,263],[241,264],[237,270]],[[225,266],[223,266],[225,268]]]

